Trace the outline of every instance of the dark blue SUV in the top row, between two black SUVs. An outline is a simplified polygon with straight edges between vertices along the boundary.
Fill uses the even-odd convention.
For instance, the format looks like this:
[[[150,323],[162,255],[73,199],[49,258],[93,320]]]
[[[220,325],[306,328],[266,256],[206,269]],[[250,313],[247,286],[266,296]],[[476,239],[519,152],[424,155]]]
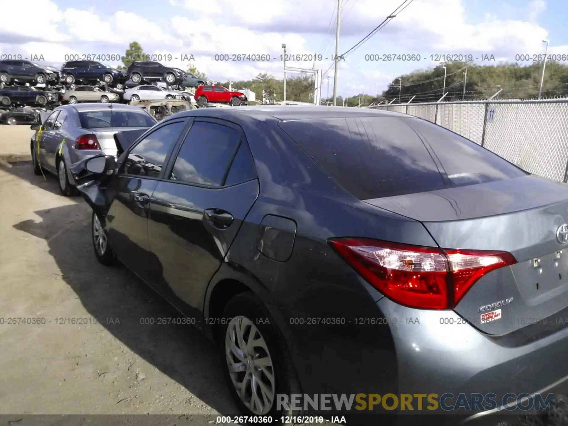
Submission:
[[[69,61],[60,70],[61,82],[72,85],[76,82],[90,83],[104,81],[122,89],[126,76],[122,71],[97,61]]]

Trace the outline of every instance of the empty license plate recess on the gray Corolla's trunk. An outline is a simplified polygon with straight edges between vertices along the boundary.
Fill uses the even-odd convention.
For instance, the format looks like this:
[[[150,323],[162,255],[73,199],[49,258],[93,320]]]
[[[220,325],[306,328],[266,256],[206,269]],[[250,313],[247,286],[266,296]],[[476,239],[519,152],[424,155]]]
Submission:
[[[515,265],[513,274],[525,300],[541,298],[568,286],[568,250],[559,250]]]

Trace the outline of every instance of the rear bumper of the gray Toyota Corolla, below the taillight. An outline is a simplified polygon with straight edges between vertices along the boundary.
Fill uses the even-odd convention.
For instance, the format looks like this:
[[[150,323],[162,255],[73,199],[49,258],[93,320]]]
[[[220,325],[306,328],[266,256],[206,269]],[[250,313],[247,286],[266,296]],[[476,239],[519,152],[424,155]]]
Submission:
[[[415,398],[414,411],[401,411],[400,406],[386,411],[379,405],[373,411],[341,412],[355,417],[460,416],[477,424],[487,421],[487,416],[519,414],[515,407],[521,394],[540,393],[545,400],[549,393],[567,389],[568,329],[529,344],[515,346],[509,341],[504,345],[462,323],[453,311],[415,310],[387,298],[378,300],[375,308],[371,313],[361,307],[360,318],[345,318],[344,325],[308,325],[309,317],[319,315],[271,307],[284,328],[304,394],[394,394],[399,398],[401,394],[436,394],[436,410],[417,410]],[[303,325],[293,324],[298,318],[303,318]],[[362,327],[365,318],[374,319],[375,325]],[[380,318],[386,321],[379,324],[376,319]],[[453,397],[445,395],[442,406],[444,394]],[[460,394],[470,407],[456,407]],[[481,407],[475,406],[472,394],[483,395]],[[427,406],[424,399],[423,407]]]

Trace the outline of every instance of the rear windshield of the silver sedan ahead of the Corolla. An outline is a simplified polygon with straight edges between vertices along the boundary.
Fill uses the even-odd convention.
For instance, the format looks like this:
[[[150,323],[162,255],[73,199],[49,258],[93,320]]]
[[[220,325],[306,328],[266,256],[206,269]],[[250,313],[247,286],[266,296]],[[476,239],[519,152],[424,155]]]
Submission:
[[[152,127],[156,124],[144,111],[80,111],[79,120],[83,129],[106,127]]]

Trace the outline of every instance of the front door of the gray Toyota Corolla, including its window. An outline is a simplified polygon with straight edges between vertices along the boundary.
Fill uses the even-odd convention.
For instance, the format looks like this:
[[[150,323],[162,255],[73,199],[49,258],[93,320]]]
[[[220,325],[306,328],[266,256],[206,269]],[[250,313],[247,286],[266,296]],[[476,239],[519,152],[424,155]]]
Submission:
[[[149,278],[157,262],[148,244],[149,201],[186,124],[186,119],[164,123],[135,143],[123,154],[124,159],[121,156],[118,174],[107,187],[107,194],[114,197],[106,215],[111,247],[128,268],[151,285]]]

